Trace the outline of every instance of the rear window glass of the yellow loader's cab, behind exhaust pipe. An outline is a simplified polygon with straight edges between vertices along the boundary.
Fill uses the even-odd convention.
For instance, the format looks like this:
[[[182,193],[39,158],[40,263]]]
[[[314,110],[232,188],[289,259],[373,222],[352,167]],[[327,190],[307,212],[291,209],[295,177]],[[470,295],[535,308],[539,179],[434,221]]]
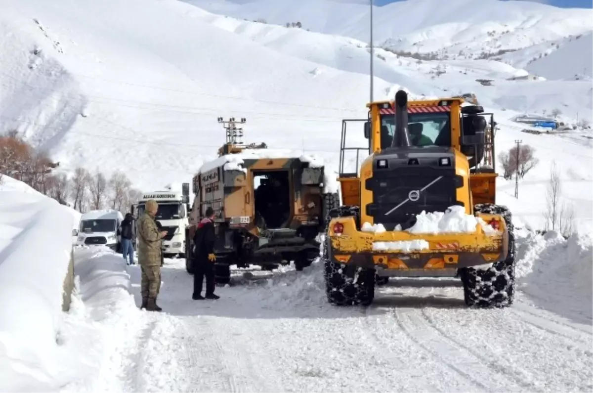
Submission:
[[[413,146],[448,146],[451,144],[449,113],[409,113],[408,132]],[[381,116],[381,149],[391,146],[395,117]]]

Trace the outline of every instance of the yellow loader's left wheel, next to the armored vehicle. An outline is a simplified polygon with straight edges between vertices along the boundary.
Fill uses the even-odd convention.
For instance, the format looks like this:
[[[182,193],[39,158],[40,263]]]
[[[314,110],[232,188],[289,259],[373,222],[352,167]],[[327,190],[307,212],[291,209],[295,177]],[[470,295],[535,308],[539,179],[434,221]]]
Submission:
[[[328,212],[327,226],[331,218],[358,218],[358,206],[340,206]],[[368,306],[375,297],[375,269],[361,268],[354,265],[340,264],[329,258],[328,244],[323,246],[326,294],[329,303],[337,306]]]

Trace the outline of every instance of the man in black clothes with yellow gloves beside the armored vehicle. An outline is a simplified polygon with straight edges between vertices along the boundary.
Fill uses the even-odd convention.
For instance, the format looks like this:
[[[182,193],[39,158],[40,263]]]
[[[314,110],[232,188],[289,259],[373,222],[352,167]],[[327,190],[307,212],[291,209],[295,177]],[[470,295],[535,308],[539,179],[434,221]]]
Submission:
[[[214,210],[211,207],[206,209],[206,218],[197,226],[196,234],[193,237],[195,245],[196,270],[193,274],[193,300],[219,299],[214,294]],[[202,283],[206,276],[206,297],[202,297]]]

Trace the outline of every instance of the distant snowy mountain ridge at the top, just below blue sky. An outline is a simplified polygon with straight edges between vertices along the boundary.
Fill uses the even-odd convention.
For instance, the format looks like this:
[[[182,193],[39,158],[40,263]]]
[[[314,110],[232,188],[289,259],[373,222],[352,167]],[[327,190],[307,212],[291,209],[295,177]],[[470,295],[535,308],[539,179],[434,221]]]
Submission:
[[[361,2],[186,1],[232,17],[279,25],[298,21],[311,31],[369,42],[370,7]],[[496,56],[593,30],[592,9],[561,9],[527,1],[406,0],[374,10],[375,45],[449,58]]]

